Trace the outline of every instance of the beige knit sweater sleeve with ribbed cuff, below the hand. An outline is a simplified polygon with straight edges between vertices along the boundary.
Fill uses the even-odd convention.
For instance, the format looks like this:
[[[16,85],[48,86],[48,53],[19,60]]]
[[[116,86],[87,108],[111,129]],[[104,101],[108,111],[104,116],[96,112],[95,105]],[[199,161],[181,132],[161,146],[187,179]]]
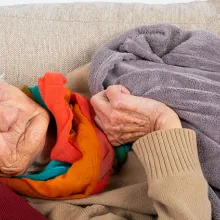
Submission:
[[[195,132],[157,131],[137,140],[133,149],[148,178],[148,194],[160,220],[208,220],[208,184],[201,171]]]

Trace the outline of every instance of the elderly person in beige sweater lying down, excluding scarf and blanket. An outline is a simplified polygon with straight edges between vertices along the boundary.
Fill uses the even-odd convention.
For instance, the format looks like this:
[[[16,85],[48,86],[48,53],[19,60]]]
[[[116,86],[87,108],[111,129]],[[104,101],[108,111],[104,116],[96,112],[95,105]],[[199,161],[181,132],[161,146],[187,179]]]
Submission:
[[[85,95],[88,67],[76,72],[69,75],[68,86]],[[110,143],[117,147],[134,142],[133,151],[120,173],[111,177],[105,192],[68,201],[27,198],[34,208],[49,219],[211,219],[195,133],[182,128],[171,108],[133,96],[120,85],[108,87],[90,102],[95,121]],[[1,83],[2,175],[20,175],[33,162],[48,162],[55,140],[49,123],[45,109],[18,88]]]

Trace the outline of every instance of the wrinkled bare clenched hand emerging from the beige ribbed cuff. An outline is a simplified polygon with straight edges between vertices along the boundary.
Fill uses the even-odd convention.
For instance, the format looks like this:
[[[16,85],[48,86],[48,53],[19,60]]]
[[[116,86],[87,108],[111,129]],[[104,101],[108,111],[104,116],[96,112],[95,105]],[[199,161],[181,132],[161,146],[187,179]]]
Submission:
[[[90,102],[96,124],[113,146],[133,142],[153,131],[181,128],[177,114],[168,106],[133,96],[121,85],[109,86]]]

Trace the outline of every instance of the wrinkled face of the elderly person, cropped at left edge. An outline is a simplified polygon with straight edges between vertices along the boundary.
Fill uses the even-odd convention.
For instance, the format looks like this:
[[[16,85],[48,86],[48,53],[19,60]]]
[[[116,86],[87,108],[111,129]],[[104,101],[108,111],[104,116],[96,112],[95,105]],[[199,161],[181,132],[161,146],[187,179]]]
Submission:
[[[49,114],[18,88],[0,83],[0,174],[20,175],[43,150]]]

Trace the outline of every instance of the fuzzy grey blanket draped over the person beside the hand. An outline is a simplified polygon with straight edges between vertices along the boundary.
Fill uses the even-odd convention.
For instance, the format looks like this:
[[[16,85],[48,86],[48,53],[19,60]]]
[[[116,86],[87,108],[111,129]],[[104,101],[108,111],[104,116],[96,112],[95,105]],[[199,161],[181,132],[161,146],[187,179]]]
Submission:
[[[93,57],[92,95],[121,84],[133,95],[164,102],[197,132],[213,217],[220,219],[220,38],[159,24],[129,30]]]

